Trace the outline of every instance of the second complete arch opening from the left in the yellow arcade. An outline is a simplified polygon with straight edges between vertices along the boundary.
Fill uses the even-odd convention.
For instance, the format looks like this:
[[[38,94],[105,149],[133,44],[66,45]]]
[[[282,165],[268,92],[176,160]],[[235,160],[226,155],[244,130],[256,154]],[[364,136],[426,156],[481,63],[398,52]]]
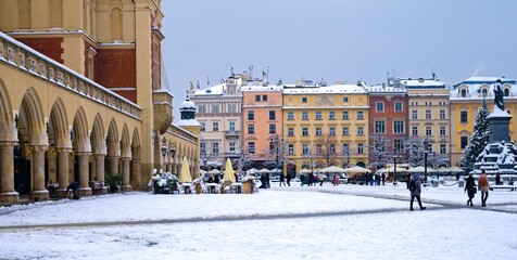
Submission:
[[[55,100],[50,110],[48,134],[49,143],[56,148],[72,147],[68,132],[68,118],[66,118],[66,109],[61,98]]]

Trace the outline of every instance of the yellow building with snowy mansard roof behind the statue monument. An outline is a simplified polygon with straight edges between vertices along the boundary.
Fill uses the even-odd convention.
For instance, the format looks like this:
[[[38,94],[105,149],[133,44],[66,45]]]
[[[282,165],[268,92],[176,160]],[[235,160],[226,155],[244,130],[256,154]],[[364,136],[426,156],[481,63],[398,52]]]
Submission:
[[[476,115],[482,106],[483,100],[487,102],[489,113],[493,110],[493,87],[495,81],[501,79],[501,87],[504,91],[505,109],[514,117],[509,125],[510,140],[517,140],[517,80],[497,77],[471,77],[451,89],[451,164],[459,166],[464,155],[464,150],[468,145],[472,135]]]

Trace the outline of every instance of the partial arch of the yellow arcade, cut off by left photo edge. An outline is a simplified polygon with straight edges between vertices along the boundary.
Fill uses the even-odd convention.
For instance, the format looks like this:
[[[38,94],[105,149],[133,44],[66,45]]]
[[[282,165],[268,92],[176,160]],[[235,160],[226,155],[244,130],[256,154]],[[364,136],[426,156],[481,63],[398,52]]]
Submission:
[[[16,141],[16,126],[14,123],[11,101],[9,94],[0,79],[0,140]]]

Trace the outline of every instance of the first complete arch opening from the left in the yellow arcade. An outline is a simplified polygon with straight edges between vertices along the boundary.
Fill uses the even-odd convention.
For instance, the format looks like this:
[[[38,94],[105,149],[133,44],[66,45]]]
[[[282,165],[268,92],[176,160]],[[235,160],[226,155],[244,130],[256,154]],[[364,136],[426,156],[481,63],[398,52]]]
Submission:
[[[48,145],[47,128],[45,126],[43,108],[34,88],[29,88],[22,100],[18,116],[18,130],[25,140],[34,145]]]

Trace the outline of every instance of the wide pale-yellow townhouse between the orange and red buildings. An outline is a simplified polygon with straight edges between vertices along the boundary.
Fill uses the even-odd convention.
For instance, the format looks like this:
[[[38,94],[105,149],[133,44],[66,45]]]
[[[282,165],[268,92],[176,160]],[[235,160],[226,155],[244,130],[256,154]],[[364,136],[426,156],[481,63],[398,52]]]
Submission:
[[[368,165],[368,95],[363,82],[283,86],[287,172]]]

